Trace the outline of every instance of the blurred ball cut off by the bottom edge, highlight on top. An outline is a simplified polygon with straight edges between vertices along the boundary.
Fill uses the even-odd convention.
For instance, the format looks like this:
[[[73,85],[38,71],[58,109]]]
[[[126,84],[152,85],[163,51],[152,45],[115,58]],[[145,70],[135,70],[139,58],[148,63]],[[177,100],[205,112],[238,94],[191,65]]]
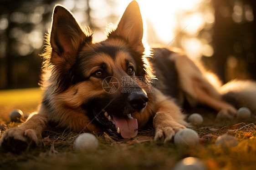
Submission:
[[[180,160],[173,170],[207,170],[205,163],[194,157],[187,157]]]

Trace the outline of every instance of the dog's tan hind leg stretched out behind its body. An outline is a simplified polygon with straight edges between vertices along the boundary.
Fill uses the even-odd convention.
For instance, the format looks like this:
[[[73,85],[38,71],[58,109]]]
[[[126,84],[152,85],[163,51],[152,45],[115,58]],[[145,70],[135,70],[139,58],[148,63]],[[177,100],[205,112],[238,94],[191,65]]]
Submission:
[[[178,72],[179,86],[190,104],[200,102],[219,111],[217,118],[234,118],[236,108],[222,100],[218,87],[210,82],[203,69],[200,69],[186,55],[172,55]]]

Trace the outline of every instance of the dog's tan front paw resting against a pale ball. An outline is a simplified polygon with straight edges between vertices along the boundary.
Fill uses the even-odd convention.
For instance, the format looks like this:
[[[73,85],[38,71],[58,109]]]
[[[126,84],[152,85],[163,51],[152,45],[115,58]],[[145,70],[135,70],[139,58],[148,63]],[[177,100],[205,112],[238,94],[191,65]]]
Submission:
[[[183,125],[173,125],[173,126],[168,126],[168,127],[162,127],[162,128],[157,128],[155,132],[155,137],[154,140],[161,140],[164,141],[164,143],[170,141],[174,135],[182,129],[185,129],[186,127]]]

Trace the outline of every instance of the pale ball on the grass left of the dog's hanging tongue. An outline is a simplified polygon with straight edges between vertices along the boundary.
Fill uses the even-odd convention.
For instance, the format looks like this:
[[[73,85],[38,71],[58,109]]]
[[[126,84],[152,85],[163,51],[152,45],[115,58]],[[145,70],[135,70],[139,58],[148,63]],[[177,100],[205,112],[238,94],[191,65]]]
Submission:
[[[74,147],[77,152],[91,152],[98,148],[97,138],[90,133],[83,133],[77,137]]]

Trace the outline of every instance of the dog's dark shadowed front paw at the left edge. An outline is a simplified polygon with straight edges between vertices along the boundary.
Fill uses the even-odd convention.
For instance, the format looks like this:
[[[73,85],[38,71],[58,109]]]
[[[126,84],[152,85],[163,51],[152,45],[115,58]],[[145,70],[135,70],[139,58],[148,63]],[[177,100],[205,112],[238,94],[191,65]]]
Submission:
[[[41,143],[41,134],[37,134],[35,130],[21,127],[6,130],[0,140],[0,146],[7,150],[23,150],[28,145],[33,147],[41,145]]]

